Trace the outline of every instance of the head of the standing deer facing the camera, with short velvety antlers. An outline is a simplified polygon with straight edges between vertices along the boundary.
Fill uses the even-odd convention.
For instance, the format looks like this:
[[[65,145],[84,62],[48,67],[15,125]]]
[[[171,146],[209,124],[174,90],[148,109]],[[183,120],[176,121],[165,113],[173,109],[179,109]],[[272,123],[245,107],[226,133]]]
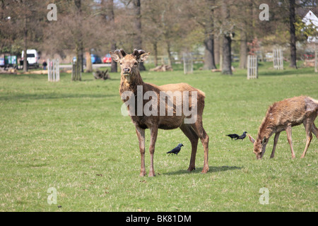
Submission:
[[[112,59],[120,64],[122,76],[128,82],[138,74],[139,63],[145,61],[149,54],[142,49],[134,49],[132,54],[126,54],[123,49],[116,49],[114,52],[110,52]]]

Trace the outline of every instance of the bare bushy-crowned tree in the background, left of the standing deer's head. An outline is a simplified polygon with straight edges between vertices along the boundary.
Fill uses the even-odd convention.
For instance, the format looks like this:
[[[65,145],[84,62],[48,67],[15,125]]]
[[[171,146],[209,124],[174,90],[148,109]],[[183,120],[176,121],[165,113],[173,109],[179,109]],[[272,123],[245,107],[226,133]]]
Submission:
[[[83,52],[86,61],[90,61],[90,49],[99,47],[107,40],[100,38],[104,30],[102,18],[92,9],[90,0],[59,1],[59,18],[48,24],[46,29],[45,48],[52,54],[71,49],[81,63],[83,71]],[[99,29],[95,26],[98,25]],[[86,62],[86,63],[87,63]]]

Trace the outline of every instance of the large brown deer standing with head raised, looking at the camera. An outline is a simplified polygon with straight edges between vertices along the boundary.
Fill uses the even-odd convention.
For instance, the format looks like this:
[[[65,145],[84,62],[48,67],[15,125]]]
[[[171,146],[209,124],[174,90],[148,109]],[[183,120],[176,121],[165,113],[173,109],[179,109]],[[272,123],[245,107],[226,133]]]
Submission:
[[[146,175],[145,169],[145,129],[150,129],[151,131],[151,143],[149,147],[149,152],[151,155],[151,166],[149,170],[149,177],[155,176],[155,170],[153,168],[153,153],[155,152],[155,141],[157,140],[158,129],[177,129],[180,128],[182,132],[189,138],[192,144],[192,153],[190,159],[190,165],[187,169],[188,172],[195,169],[195,159],[196,159],[196,148],[198,145],[199,138],[204,146],[204,167],[202,173],[208,172],[208,134],[204,131],[202,125],[202,114],[204,111],[204,93],[201,90],[193,88],[187,83],[178,84],[168,84],[168,85],[153,85],[151,83],[144,83],[140,72],[138,69],[139,63],[145,61],[149,55],[143,50],[134,49],[132,54],[126,54],[123,49],[117,49],[114,52],[110,52],[112,59],[119,62],[121,67],[121,83],[119,85],[119,93],[122,96],[122,100],[128,102],[129,100],[134,100],[134,96],[137,96],[137,100],[134,100],[134,105],[146,108],[146,93],[150,93],[151,99],[154,101],[152,105],[152,110],[154,111],[151,115],[146,115],[145,112],[138,112],[139,109],[134,109],[130,105],[127,105],[131,117],[131,121],[136,126],[136,134],[139,139],[139,149],[141,153],[141,176]],[[142,99],[138,98],[138,91],[142,90]],[[123,98],[123,94],[126,92],[132,92],[129,100]],[[172,93],[179,92],[182,97],[184,93],[189,93],[191,98],[196,96],[196,99],[192,98],[192,101],[184,101],[179,98],[170,99]],[[165,98],[160,97],[162,94],[167,95],[168,103],[165,103]],[[148,96],[147,96],[148,97]],[[132,98],[132,99],[131,99]],[[146,98],[147,99],[147,98]],[[148,100],[150,97],[148,97]],[[187,98],[186,98],[187,99]],[[170,102],[169,105],[169,100]],[[195,100],[195,101],[194,101]],[[164,102],[164,105],[162,105]],[[191,124],[185,123],[187,119],[190,118],[189,114],[185,114],[184,108],[180,114],[177,114],[179,107],[188,107],[188,109],[196,108],[194,117],[196,120],[192,121]],[[161,110],[160,110],[161,109]],[[180,108],[179,108],[180,109]],[[167,112],[172,110],[173,114],[163,115],[159,114],[162,112]]]

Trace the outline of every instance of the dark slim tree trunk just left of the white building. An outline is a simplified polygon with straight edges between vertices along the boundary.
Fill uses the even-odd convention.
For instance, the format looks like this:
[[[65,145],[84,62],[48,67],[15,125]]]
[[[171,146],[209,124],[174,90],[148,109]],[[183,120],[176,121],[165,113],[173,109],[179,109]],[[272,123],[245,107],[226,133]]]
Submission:
[[[290,22],[290,67],[297,69],[296,35],[295,35],[295,0],[289,1],[289,22]]]

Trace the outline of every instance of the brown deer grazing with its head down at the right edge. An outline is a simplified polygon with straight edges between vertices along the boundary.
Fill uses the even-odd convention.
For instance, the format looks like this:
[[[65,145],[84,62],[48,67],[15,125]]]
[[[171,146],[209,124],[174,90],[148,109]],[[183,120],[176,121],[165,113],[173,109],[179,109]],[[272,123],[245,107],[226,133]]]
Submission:
[[[273,133],[275,133],[275,138],[271,158],[274,157],[279,134],[284,130],[287,133],[292,157],[295,158],[291,131],[293,126],[298,126],[300,124],[304,124],[307,136],[305,150],[301,156],[305,157],[310,141],[312,141],[312,133],[318,138],[318,129],[314,125],[314,119],[316,119],[317,114],[318,101],[311,97],[293,97],[273,103],[267,110],[266,117],[261,123],[261,126],[259,126],[257,140],[255,141],[252,136],[249,136],[249,140],[254,143],[254,153],[257,155],[257,159],[263,157],[266,145]]]

